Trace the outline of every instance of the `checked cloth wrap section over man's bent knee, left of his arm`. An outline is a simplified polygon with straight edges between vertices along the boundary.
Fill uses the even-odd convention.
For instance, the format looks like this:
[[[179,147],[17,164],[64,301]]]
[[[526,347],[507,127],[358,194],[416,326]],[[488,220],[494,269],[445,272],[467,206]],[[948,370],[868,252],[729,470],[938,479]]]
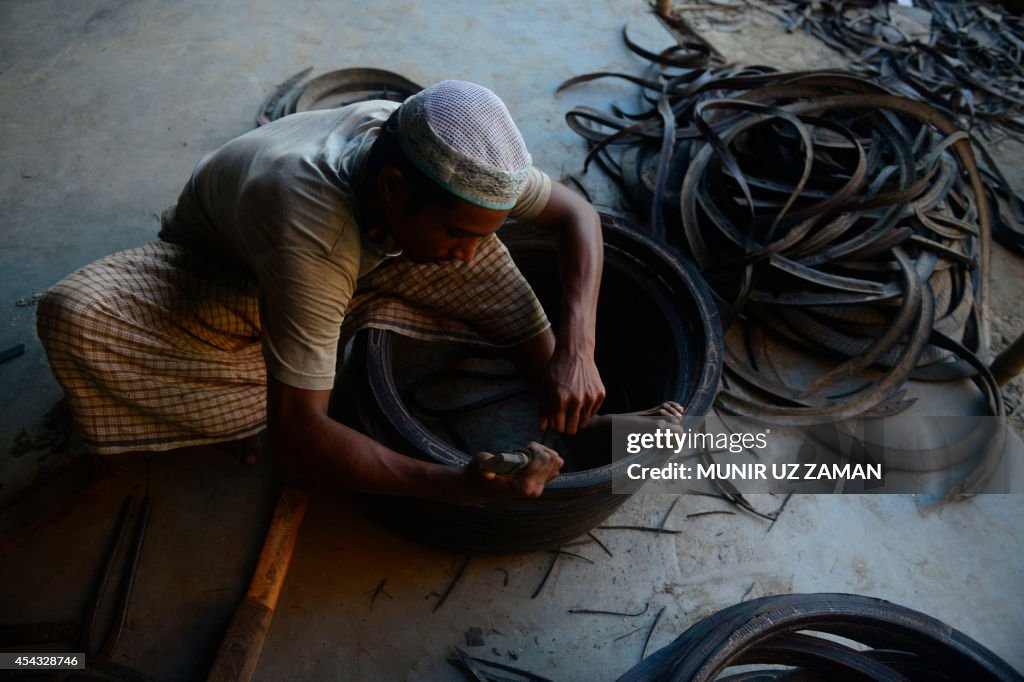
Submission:
[[[171,450],[259,432],[266,370],[254,287],[154,242],[72,273],[39,338],[90,450]]]

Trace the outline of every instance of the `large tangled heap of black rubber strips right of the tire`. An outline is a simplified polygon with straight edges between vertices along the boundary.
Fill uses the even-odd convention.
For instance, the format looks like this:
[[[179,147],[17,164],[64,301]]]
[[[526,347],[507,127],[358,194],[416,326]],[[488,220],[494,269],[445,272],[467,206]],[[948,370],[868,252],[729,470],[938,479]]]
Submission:
[[[788,423],[898,414],[906,382],[971,378],[997,418],[974,492],[1002,449],[988,354],[990,238],[1020,244],[1021,204],[957,122],[885,80],[722,63],[669,23],[676,44],[627,46],[638,105],[577,106],[569,126],[650,235],[689,256],[726,332],[717,406]],[[628,110],[628,111],[627,111]],[[767,339],[826,360],[809,382],[773,365]]]

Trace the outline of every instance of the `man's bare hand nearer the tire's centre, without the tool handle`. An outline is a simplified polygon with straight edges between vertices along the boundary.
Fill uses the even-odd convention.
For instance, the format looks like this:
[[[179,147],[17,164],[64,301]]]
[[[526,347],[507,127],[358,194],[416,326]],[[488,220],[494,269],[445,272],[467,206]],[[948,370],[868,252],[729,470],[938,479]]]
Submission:
[[[541,430],[573,435],[604,402],[604,384],[592,352],[559,344],[541,384]]]

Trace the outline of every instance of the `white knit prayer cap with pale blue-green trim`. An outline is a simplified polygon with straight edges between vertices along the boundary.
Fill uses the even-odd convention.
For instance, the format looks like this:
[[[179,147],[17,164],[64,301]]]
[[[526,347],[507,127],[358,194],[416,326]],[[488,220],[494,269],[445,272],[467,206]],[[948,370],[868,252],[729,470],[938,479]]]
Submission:
[[[515,206],[531,163],[505,103],[466,81],[441,81],[402,102],[398,143],[431,179],[490,209]]]

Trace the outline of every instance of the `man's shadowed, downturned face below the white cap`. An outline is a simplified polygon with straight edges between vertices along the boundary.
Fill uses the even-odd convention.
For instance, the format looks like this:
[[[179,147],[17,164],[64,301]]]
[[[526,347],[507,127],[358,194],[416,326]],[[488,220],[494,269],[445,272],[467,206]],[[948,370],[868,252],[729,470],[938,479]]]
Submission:
[[[461,199],[451,206],[418,207],[400,198],[389,203],[385,214],[403,256],[414,263],[447,265],[456,259],[472,260],[480,240],[497,231],[509,212]]]

